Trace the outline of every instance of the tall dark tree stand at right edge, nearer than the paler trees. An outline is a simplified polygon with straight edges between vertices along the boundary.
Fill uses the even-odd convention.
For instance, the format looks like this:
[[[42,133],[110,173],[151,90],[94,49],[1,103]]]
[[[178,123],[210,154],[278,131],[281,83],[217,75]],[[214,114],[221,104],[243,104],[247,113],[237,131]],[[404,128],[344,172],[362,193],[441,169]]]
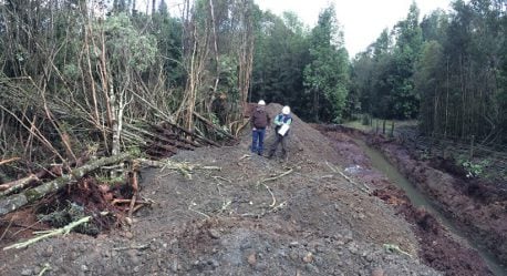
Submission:
[[[426,21],[428,37],[439,45],[428,45],[426,65],[420,67],[424,132],[486,140],[506,136],[498,78],[505,74],[506,60],[505,3],[501,7],[492,0],[455,1],[448,17]],[[431,52],[438,62],[431,61]]]

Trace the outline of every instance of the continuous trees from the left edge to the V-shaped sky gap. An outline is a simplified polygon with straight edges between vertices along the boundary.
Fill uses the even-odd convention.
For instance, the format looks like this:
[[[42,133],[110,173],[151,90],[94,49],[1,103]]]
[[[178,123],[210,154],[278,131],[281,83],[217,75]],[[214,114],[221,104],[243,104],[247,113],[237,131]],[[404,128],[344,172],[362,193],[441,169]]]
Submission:
[[[333,7],[309,30],[252,0],[143,4],[0,2],[0,160],[30,170],[114,155],[163,122],[183,140],[218,141],[261,98],[306,119],[341,119],[350,64]]]

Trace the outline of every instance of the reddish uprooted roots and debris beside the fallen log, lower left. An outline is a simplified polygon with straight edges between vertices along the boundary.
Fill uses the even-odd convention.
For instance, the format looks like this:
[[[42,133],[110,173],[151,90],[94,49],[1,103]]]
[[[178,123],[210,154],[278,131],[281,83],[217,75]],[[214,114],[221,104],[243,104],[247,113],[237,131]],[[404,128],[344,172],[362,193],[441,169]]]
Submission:
[[[4,216],[0,222],[0,243],[8,244],[20,237],[30,238],[33,231],[62,228],[83,217],[90,219],[73,227],[73,232],[96,236],[121,227],[128,224],[126,214],[131,211],[133,193],[128,184],[105,184],[85,176],[75,185]],[[148,200],[137,198],[134,209],[149,204]]]

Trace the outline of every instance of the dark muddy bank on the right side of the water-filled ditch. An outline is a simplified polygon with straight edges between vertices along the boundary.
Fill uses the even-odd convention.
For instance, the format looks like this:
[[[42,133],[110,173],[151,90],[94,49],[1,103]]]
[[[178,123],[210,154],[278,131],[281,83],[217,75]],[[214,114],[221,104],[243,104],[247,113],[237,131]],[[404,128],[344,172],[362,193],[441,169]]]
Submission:
[[[498,185],[466,178],[465,173],[448,161],[415,160],[394,141],[381,137],[370,141],[468,238],[483,244],[499,262],[507,264],[507,195]]]

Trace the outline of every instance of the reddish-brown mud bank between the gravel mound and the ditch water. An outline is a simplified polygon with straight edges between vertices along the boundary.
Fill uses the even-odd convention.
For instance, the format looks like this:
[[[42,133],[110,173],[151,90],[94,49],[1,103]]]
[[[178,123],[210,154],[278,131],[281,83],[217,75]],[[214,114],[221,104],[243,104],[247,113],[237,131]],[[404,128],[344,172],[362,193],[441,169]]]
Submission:
[[[425,264],[444,272],[446,275],[493,275],[477,252],[465,246],[463,242],[456,241],[432,214],[415,207],[405,192],[397,188],[383,175],[375,174],[374,170],[372,170],[371,161],[368,160],[360,146],[353,142],[353,139],[373,141],[376,146],[386,149],[385,153],[390,153],[387,155],[390,159],[404,153],[401,147],[384,146],[389,145],[389,142],[379,139],[373,140],[368,134],[356,130],[341,126],[317,126],[317,129],[335,141],[335,149],[345,161],[345,166],[359,165],[363,167],[363,170],[358,171],[355,177],[366,181],[374,188],[373,195],[392,205],[399,214],[403,215],[413,225],[414,233],[420,241],[420,256]],[[393,162],[393,164],[401,168],[406,168],[404,166],[407,165],[407,161],[404,160],[410,160],[410,155],[402,156],[404,159],[399,159],[397,163]],[[411,165],[408,166],[411,168],[408,172],[421,168],[421,164],[411,163]],[[424,167],[423,164],[423,171]],[[401,170],[401,172],[407,175],[406,170]],[[408,178],[414,182],[414,178]],[[445,180],[447,178],[443,181]],[[416,181],[420,182],[421,180],[417,178]],[[417,185],[417,188],[424,188],[424,186]]]

